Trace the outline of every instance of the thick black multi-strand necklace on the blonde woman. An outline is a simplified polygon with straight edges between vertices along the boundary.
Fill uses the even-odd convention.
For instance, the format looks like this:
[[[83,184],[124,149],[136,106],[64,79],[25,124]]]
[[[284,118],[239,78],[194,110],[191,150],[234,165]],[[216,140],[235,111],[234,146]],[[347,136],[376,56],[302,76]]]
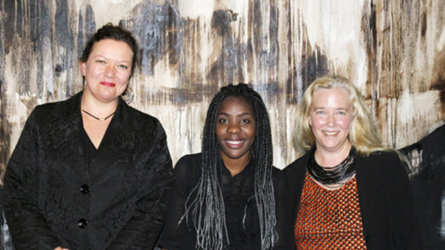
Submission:
[[[309,156],[307,170],[314,180],[323,185],[334,185],[333,188],[345,185],[355,174],[355,149],[350,148],[349,155],[335,167],[321,167],[315,160],[315,149]]]

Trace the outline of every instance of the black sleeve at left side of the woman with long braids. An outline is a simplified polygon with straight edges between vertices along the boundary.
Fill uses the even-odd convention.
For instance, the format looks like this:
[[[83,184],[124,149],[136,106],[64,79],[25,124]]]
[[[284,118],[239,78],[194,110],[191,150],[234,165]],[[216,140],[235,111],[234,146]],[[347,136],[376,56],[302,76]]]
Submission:
[[[194,249],[193,233],[188,228],[193,227],[192,222],[181,220],[185,213],[185,203],[188,194],[197,184],[200,176],[200,155],[184,156],[175,166],[175,186],[170,197],[167,217],[159,247],[168,250]],[[181,221],[181,223],[179,223]]]

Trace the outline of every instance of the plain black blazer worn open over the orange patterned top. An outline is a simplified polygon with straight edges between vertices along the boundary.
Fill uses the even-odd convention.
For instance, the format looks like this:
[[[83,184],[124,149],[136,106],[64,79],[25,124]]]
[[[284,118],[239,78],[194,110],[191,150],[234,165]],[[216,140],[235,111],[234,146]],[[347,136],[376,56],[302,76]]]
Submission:
[[[290,241],[308,160],[309,152],[284,169],[291,208]],[[366,249],[422,249],[410,182],[397,154],[380,151],[368,157],[357,156],[355,168]]]

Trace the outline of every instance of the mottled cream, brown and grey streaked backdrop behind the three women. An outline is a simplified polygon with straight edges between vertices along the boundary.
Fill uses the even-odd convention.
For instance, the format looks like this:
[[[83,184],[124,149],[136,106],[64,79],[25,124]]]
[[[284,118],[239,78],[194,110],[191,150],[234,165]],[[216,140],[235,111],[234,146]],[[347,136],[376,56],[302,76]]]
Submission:
[[[266,102],[274,163],[283,168],[297,157],[291,131],[302,92],[318,76],[342,74],[362,90],[382,139],[407,147],[415,181],[431,168],[422,165],[429,156],[421,157],[419,141],[445,120],[444,6],[443,0],[0,0],[0,181],[31,110],[81,90],[78,58],[107,22],[122,24],[140,42],[131,106],[161,120],[174,162],[200,151],[213,94],[244,82]],[[435,143],[443,145],[440,136]],[[434,153],[435,169],[444,169],[444,151]],[[428,244],[444,246],[445,176],[434,173],[419,182],[431,185],[434,178],[433,194],[416,195],[435,198],[439,224],[430,226],[435,242]]]

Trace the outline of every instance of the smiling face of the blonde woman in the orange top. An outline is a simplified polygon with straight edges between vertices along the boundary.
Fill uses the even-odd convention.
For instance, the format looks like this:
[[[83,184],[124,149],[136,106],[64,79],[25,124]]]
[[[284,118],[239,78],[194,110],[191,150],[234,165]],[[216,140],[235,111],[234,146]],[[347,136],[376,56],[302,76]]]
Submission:
[[[315,136],[317,151],[340,153],[349,151],[350,123],[353,107],[349,92],[341,88],[316,90],[309,113],[309,126]]]

